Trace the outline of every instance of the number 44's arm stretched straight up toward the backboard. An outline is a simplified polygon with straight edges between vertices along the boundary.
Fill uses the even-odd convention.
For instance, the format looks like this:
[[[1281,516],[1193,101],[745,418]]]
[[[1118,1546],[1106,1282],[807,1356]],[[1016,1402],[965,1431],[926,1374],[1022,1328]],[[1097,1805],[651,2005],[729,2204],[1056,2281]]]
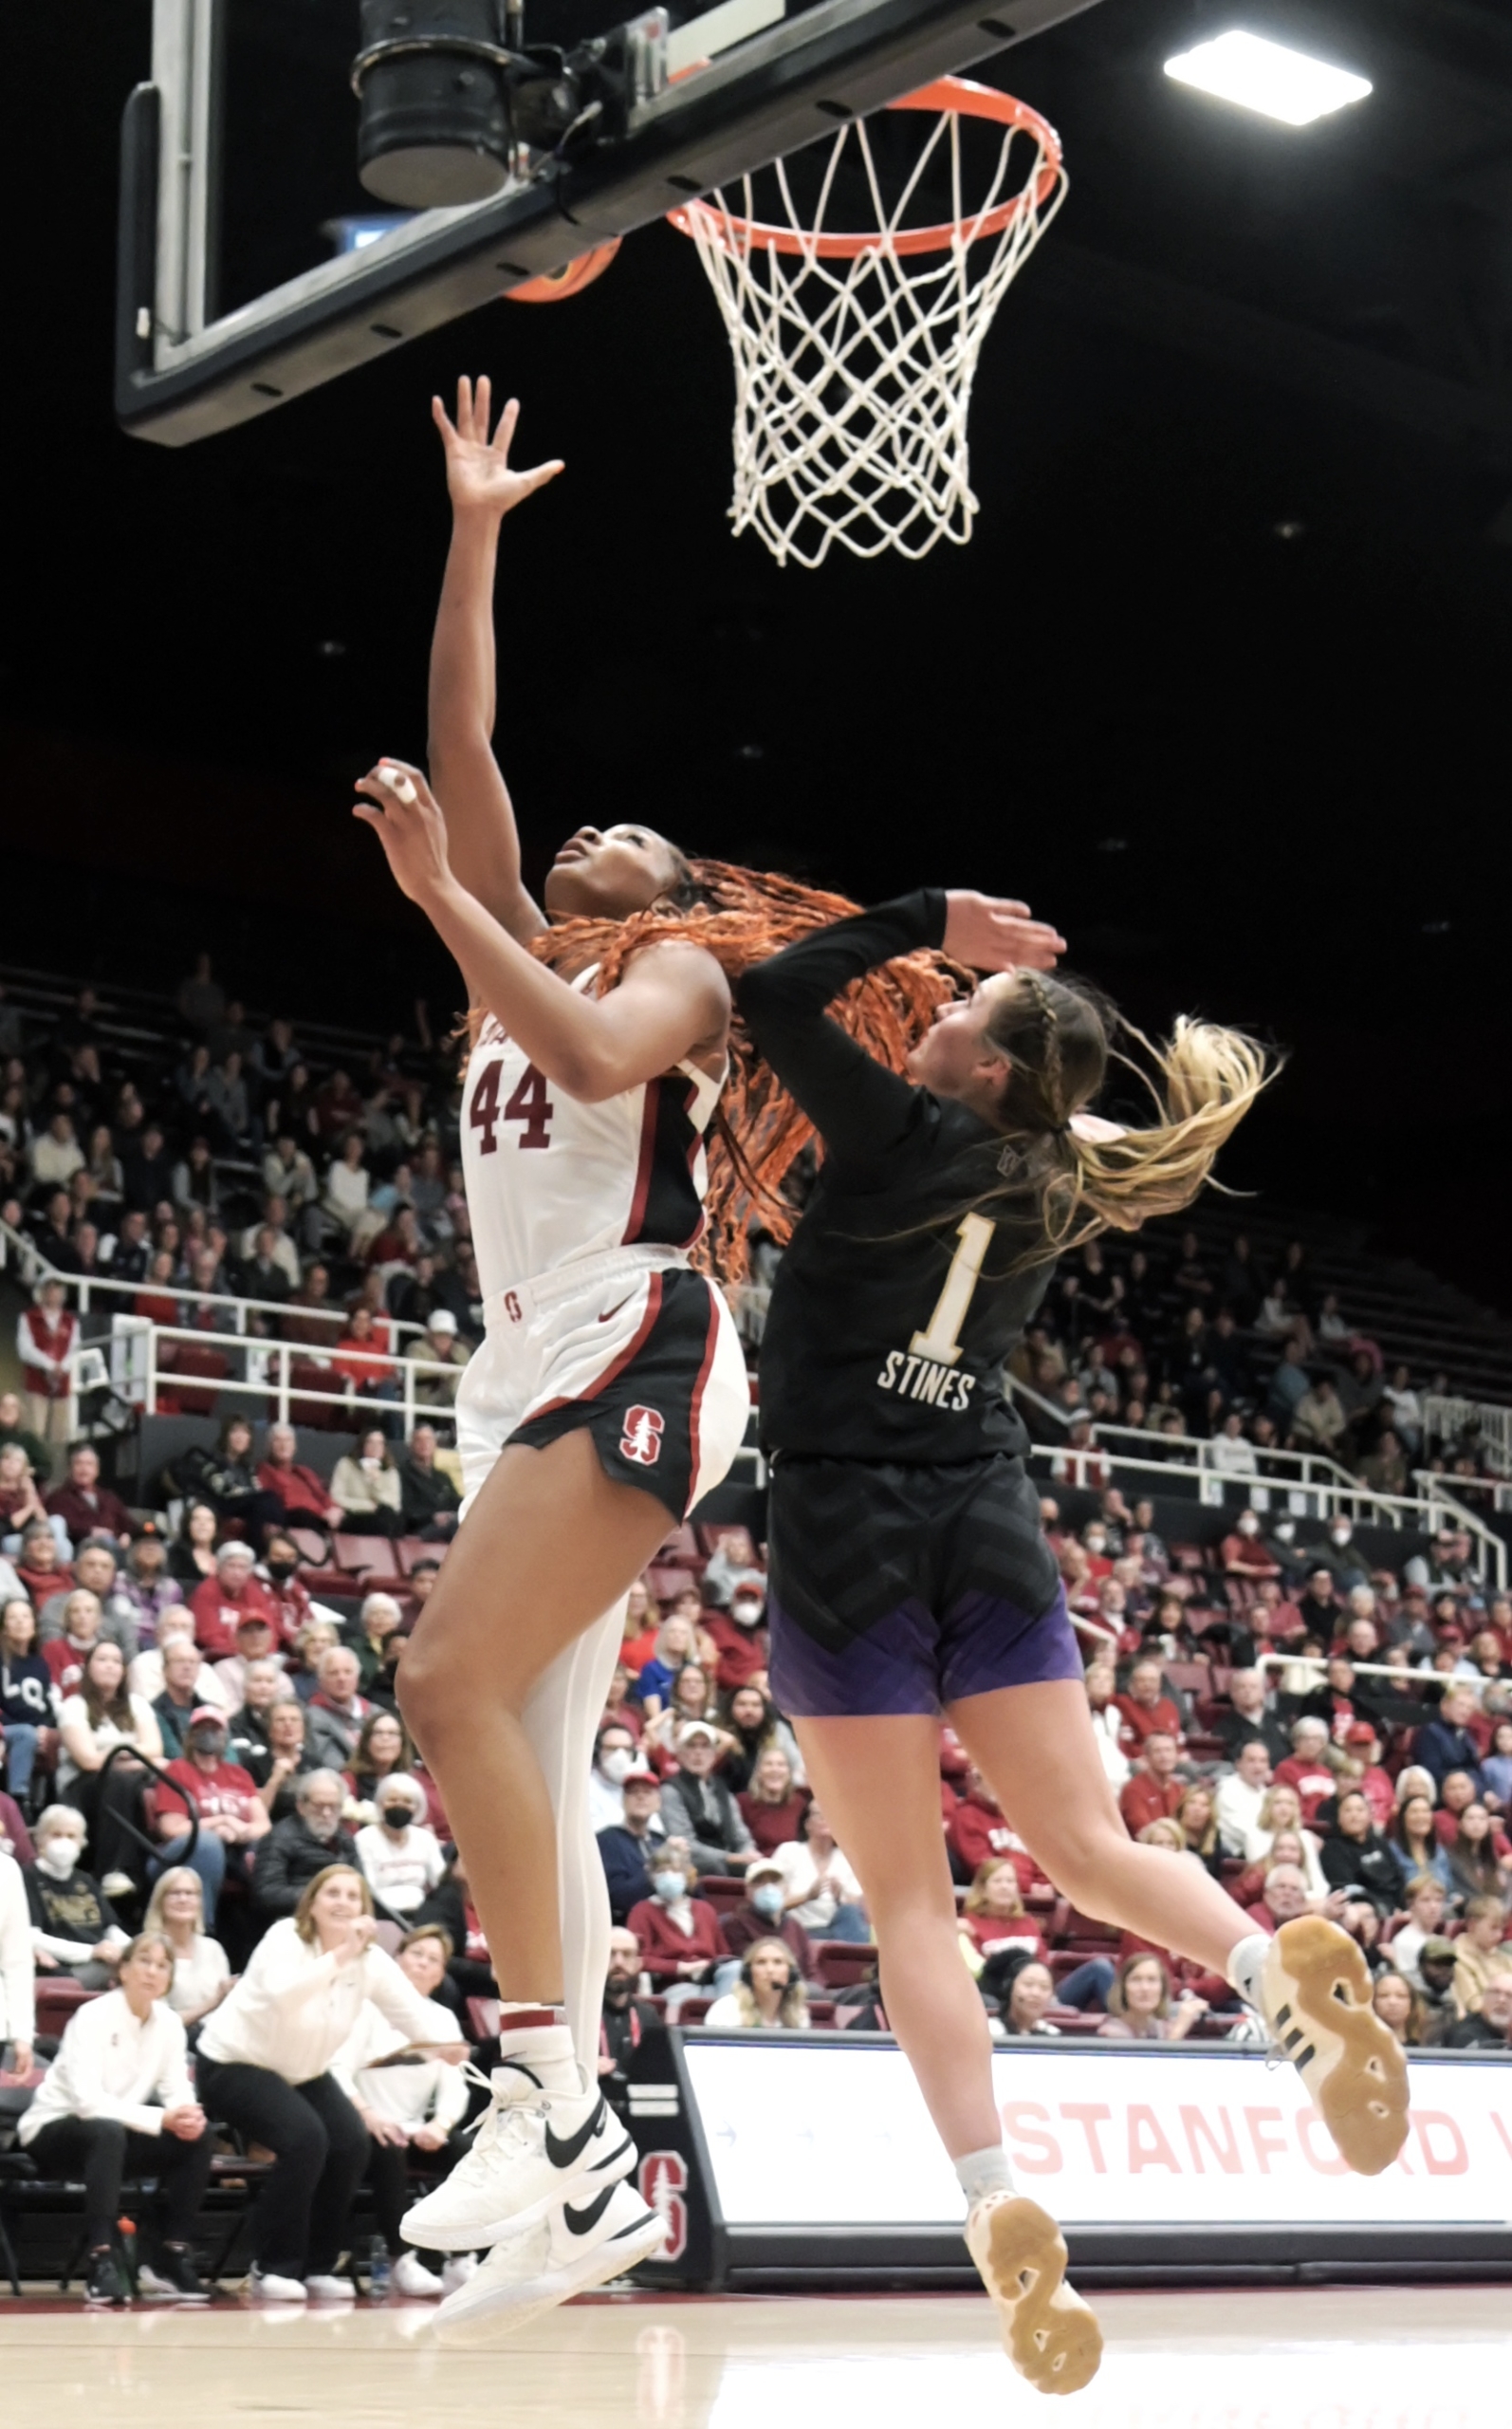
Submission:
[[[447,804],[447,845],[456,882],[522,942],[546,925],[519,882],[515,804],[493,755],[495,644],[493,583],[500,522],[512,505],[553,481],[561,462],[510,469],[515,398],[488,435],[488,379],[456,381],[456,420],[439,396],[432,420],[447,449],[451,549],[430,644],[430,780]]]

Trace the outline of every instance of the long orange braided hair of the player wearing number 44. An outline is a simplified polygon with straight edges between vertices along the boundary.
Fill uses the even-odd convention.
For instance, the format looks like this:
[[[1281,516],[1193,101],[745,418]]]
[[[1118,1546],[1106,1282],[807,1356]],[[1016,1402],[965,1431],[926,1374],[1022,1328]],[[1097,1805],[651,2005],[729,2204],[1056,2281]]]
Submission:
[[[687,860],[680,882],[660,901],[631,918],[565,918],[532,940],[539,962],[585,969],[597,962],[595,989],[607,996],[626,962],[648,945],[672,938],[701,945],[726,976],[738,979],[752,962],[849,918],[859,904],[823,894],[794,877],[743,870],[728,860]],[[959,993],[959,974],[939,952],[910,952],[900,962],[866,972],[830,1006],[832,1018],[900,1071],[939,1003]],[[471,1023],[476,1035],[476,1023]],[[748,1227],[762,1222],[786,1241],[796,1210],[781,1183],[813,1137],[813,1122],[791,1100],[745,1035],[740,1013],[731,1018],[731,1076],[709,1129],[709,1227],[697,1261],[721,1283],[748,1270]]]

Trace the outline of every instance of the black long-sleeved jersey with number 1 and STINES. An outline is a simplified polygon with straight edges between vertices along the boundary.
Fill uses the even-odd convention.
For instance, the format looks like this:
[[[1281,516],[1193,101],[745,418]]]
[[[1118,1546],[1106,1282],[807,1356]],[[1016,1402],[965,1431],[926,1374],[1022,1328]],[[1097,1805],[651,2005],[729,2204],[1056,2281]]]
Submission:
[[[944,894],[908,894],[801,938],[735,986],[825,1149],[762,1334],[760,1423],[777,1453],[951,1462],[1029,1448],[1002,1363],[1051,1266],[1019,1263],[1036,1229],[1031,1207],[1002,1195],[1005,1139],[825,1015],[866,969],[942,935]]]

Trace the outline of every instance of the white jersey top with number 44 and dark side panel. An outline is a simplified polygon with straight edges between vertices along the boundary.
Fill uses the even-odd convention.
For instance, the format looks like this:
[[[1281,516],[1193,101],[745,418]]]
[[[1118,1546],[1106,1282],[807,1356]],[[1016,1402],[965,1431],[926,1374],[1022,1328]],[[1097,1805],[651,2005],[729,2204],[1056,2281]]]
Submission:
[[[585,969],[575,981],[592,984]],[[488,1018],[468,1057],[461,1166],[483,1297],[609,1249],[692,1249],[721,1081],[682,1061],[597,1105],[558,1088]]]

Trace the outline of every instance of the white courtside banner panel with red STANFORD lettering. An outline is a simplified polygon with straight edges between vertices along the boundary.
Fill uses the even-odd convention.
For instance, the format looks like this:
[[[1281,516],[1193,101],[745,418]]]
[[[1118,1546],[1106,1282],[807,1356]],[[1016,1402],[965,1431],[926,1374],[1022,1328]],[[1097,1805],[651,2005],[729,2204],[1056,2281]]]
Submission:
[[[896,2045],[677,2040],[716,2235],[959,2237],[954,2169]],[[1262,2257],[1345,2230],[1330,2249],[1369,2259],[1374,2237],[1400,2254],[1403,2230],[1439,2230],[1446,2252],[1442,2230],[1468,2230],[1488,2259],[1512,2261],[1512,2057],[1415,2060],[1408,2145],[1383,2176],[1347,2172],[1294,2070],[1260,2050],[1019,2043],[995,2053],[993,2079],[1019,2189],[1087,2230],[1085,2249],[1112,2230],[1129,2230],[1121,2247],[1199,2230],[1204,2252],[1262,2230]]]

